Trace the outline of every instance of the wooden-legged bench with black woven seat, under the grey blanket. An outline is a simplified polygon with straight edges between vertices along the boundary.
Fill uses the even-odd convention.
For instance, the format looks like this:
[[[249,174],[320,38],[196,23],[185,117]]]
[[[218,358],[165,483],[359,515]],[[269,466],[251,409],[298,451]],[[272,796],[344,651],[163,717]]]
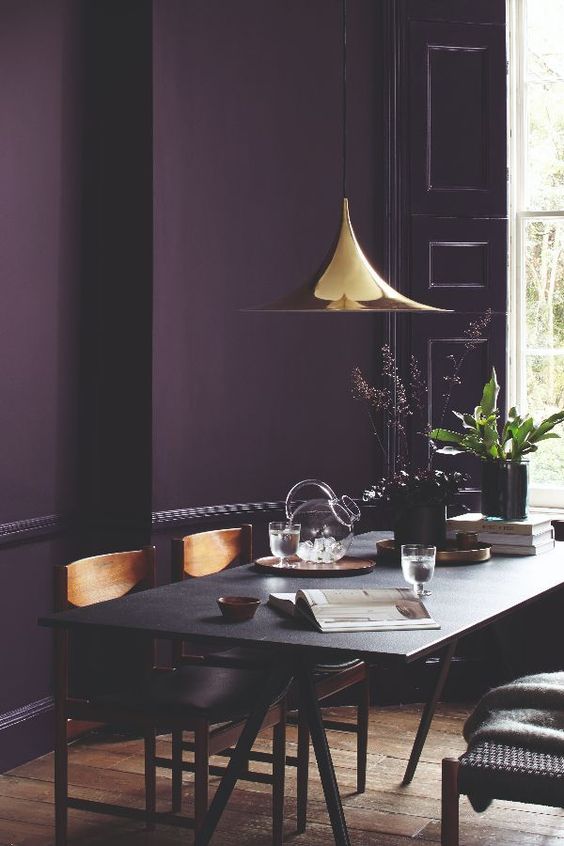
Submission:
[[[470,794],[476,810],[491,799],[564,807],[564,755],[484,741],[442,766],[441,846],[459,844],[459,797]]]

